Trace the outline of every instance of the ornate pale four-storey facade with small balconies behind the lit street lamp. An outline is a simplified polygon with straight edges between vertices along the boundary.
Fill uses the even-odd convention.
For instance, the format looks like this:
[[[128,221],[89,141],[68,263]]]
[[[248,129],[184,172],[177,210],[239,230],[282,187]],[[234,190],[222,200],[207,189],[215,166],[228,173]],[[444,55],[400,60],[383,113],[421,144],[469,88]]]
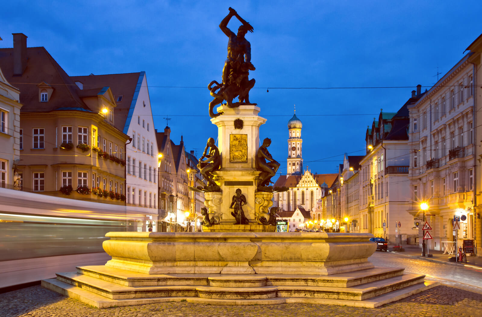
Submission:
[[[408,211],[422,224],[428,221],[432,227],[430,250],[442,250],[454,241],[454,215],[464,216],[457,231],[458,242],[474,238],[477,146],[474,66],[469,61],[472,55],[466,54],[416,103],[408,106],[411,120]],[[427,211],[421,210],[422,202],[428,204]],[[417,232],[420,241],[421,227]]]

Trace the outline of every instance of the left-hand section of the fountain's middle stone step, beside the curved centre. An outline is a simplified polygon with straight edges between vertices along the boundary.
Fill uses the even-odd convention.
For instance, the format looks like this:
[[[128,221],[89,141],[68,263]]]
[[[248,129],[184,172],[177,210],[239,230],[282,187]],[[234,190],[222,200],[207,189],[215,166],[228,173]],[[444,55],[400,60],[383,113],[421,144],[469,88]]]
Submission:
[[[79,273],[57,273],[57,280],[109,299],[197,296],[194,285],[124,286]]]

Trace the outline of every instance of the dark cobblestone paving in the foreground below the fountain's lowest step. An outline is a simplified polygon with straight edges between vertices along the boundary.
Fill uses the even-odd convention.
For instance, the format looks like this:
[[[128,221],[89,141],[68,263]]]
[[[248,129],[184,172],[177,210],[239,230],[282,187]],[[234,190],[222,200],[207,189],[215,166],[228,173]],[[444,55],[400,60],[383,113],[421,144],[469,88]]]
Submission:
[[[379,308],[314,304],[281,304],[259,306],[210,306],[187,302],[147,304],[97,309],[54,291],[33,286],[0,294],[2,317],[231,317],[231,316],[450,316],[482,315],[482,294],[439,286],[402,301]]]

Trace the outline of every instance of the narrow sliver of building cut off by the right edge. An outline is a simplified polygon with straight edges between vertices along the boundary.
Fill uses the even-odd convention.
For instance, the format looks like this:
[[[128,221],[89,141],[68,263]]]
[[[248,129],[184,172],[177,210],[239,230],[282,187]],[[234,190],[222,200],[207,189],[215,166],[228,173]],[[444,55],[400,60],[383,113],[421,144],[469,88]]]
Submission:
[[[469,63],[473,63],[472,66],[472,73],[473,73],[473,81],[468,82],[467,86],[469,86],[469,93],[473,95],[473,103],[474,103],[474,120],[473,120],[473,136],[476,138],[473,140],[474,143],[474,157],[473,157],[473,166],[474,166],[474,211],[472,215],[473,219],[473,238],[475,240],[475,249],[477,255],[482,254],[482,223],[481,223],[481,215],[482,215],[482,94],[481,94],[481,83],[482,83],[482,34],[474,40],[467,50],[470,51],[471,55],[469,56]],[[470,78],[469,78],[470,79]],[[471,84],[471,85],[469,85]],[[477,87],[477,88],[476,88]],[[469,133],[469,137],[470,137]],[[470,176],[470,175],[469,175]]]

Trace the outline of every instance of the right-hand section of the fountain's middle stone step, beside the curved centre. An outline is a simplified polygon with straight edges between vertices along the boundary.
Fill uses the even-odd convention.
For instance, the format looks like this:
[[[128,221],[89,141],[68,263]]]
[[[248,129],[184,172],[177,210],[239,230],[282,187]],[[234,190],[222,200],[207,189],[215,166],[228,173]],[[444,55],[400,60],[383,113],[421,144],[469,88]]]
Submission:
[[[340,300],[363,301],[369,298],[399,290],[404,287],[423,283],[425,275],[403,274],[354,287],[324,286],[278,286],[279,297],[329,298]]]

